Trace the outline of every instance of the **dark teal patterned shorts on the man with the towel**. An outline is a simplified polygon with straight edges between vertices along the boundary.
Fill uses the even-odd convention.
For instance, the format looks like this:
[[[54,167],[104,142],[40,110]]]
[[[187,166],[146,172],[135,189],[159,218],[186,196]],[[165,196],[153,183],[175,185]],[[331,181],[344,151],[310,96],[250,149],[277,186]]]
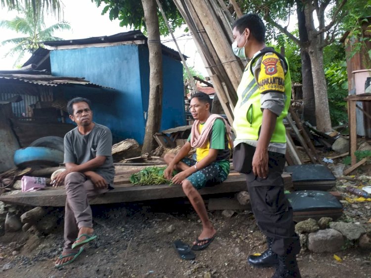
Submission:
[[[192,167],[196,164],[196,160],[183,158],[183,163]],[[186,178],[194,188],[201,189],[205,186],[218,185],[224,182],[228,177],[228,174],[223,171],[219,166],[218,162],[213,162],[209,166],[194,172],[192,175]]]

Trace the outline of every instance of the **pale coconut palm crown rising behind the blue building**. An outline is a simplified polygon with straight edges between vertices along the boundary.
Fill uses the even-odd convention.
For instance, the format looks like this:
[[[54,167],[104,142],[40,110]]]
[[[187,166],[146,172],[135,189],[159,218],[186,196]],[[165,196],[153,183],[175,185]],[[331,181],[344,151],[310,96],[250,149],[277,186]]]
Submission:
[[[5,56],[18,53],[15,63],[19,62],[25,52],[33,53],[39,47],[43,47],[41,42],[61,40],[53,36],[54,31],[71,29],[70,25],[65,21],[58,22],[46,28],[44,13],[39,8],[34,11],[32,6],[28,6],[28,8],[18,6],[18,10],[23,16],[16,16],[11,20],[0,21],[0,27],[24,35],[0,43],[1,45],[13,45]]]

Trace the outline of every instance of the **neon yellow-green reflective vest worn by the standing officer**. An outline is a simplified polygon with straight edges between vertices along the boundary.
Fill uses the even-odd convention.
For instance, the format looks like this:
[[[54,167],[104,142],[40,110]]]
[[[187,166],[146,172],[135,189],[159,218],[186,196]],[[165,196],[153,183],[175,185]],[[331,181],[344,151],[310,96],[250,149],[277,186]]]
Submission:
[[[238,101],[234,108],[233,129],[236,140],[258,140],[260,127],[262,125],[263,111],[261,110],[260,96],[264,92],[280,92],[285,94],[285,106],[277,118],[276,128],[273,132],[271,142],[285,143],[285,127],[283,118],[291,100],[291,77],[286,61],[286,73],[283,72],[279,54],[275,51],[258,52],[247,64],[242,80],[237,89]],[[259,56],[263,56],[258,83],[252,73],[252,63]],[[282,56],[281,56],[282,57]],[[286,59],[286,58],[284,58]]]

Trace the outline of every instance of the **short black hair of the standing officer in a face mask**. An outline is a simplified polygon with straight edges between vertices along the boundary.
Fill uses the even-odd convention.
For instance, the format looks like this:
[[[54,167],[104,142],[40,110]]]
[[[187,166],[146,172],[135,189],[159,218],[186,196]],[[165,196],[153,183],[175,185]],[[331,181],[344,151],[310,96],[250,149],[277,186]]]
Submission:
[[[232,29],[234,28],[236,28],[241,35],[243,31],[248,28],[255,40],[260,43],[265,43],[265,25],[263,20],[256,13],[247,13],[238,18],[233,24]]]

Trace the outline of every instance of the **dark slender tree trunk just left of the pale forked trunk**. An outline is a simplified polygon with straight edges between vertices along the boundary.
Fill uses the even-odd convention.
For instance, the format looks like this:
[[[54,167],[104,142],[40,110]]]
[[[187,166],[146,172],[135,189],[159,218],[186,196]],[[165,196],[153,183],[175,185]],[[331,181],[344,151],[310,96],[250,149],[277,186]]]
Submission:
[[[296,0],[296,13],[298,16],[299,40],[301,45],[308,44],[308,32],[305,27],[305,14],[301,0]],[[303,114],[304,119],[316,126],[316,103],[313,88],[311,60],[307,49],[300,47],[302,89],[303,89]]]

